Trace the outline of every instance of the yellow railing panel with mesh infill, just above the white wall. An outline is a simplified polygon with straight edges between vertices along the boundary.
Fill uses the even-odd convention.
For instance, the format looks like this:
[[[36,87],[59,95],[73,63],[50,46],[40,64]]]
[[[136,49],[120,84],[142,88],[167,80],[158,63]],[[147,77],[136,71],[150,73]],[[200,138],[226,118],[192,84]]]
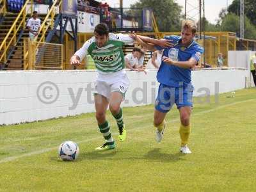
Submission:
[[[28,52],[28,58],[24,65],[29,70],[35,69],[63,69],[63,45],[35,42],[24,39],[24,52]]]

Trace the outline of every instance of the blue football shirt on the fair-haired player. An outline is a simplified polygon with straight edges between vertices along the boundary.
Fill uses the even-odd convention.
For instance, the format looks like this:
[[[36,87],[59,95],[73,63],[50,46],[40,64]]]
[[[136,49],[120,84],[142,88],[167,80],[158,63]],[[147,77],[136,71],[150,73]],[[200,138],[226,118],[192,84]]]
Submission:
[[[174,61],[188,61],[190,58],[195,58],[196,61],[199,61],[201,54],[204,52],[204,49],[195,41],[191,42],[188,47],[181,45],[181,36],[171,35],[164,38],[171,40],[174,46],[165,48],[163,56]],[[161,50],[163,47],[156,46],[156,49]],[[157,81],[173,87],[180,87],[181,84],[188,86],[188,84],[191,84],[191,69],[168,65],[162,61],[157,72]]]

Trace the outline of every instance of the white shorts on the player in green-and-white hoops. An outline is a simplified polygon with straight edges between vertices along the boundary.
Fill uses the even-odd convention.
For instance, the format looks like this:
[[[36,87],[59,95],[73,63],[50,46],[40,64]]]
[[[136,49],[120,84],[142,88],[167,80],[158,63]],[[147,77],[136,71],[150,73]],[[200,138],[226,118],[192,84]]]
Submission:
[[[95,93],[103,95],[107,99],[110,98],[112,92],[120,92],[125,96],[129,88],[130,81],[127,77],[125,70],[120,70],[111,74],[98,74]]]

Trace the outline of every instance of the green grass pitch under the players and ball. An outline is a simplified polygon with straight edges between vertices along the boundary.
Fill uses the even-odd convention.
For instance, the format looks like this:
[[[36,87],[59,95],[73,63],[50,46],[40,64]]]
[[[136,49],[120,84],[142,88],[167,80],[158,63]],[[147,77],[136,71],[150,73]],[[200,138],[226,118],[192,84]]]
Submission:
[[[0,191],[256,191],[256,89],[227,95],[195,99],[190,155],[179,153],[175,108],[160,144],[154,106],[124,108],[127,140],[108,152],[94,151],[103,140],[93,113],[0,127]],[[77,161],[58,158],[65,140],[79,143]]]

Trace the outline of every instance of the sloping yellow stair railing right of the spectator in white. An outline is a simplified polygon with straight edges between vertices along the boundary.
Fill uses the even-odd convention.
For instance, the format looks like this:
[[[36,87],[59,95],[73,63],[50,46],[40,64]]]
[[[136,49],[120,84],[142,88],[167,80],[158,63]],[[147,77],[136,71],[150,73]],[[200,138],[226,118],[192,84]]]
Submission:
[[[49,28],[53,28],[54,26],[54,17],[56,15],[56,9],[59,8],[60,10],[60,6],[61,6],[62,0],[55,0],[54,3],[51,6],[51,9],[49,10],[49,12],[47,13],[44,22],[42,22],[42,25],[40,26],[40,29],[38,31],[38,36],[41,36],[40,39],[38,40],[38,36],[36,36],[35,41],[38,42],[44,42],[45,41],[45,34],[47,32],[47,30]],[[36,46],[38,46],[39,44],[36,44]],[[38,47],[35,47],[35,49],[37,49]],[[26,52],[24,51],[24,61],[28,61],[28,56],[29,56],[29,51],[26,50]],[[24,70],[29,69],[29,63],[25,62],[24,63]]]

